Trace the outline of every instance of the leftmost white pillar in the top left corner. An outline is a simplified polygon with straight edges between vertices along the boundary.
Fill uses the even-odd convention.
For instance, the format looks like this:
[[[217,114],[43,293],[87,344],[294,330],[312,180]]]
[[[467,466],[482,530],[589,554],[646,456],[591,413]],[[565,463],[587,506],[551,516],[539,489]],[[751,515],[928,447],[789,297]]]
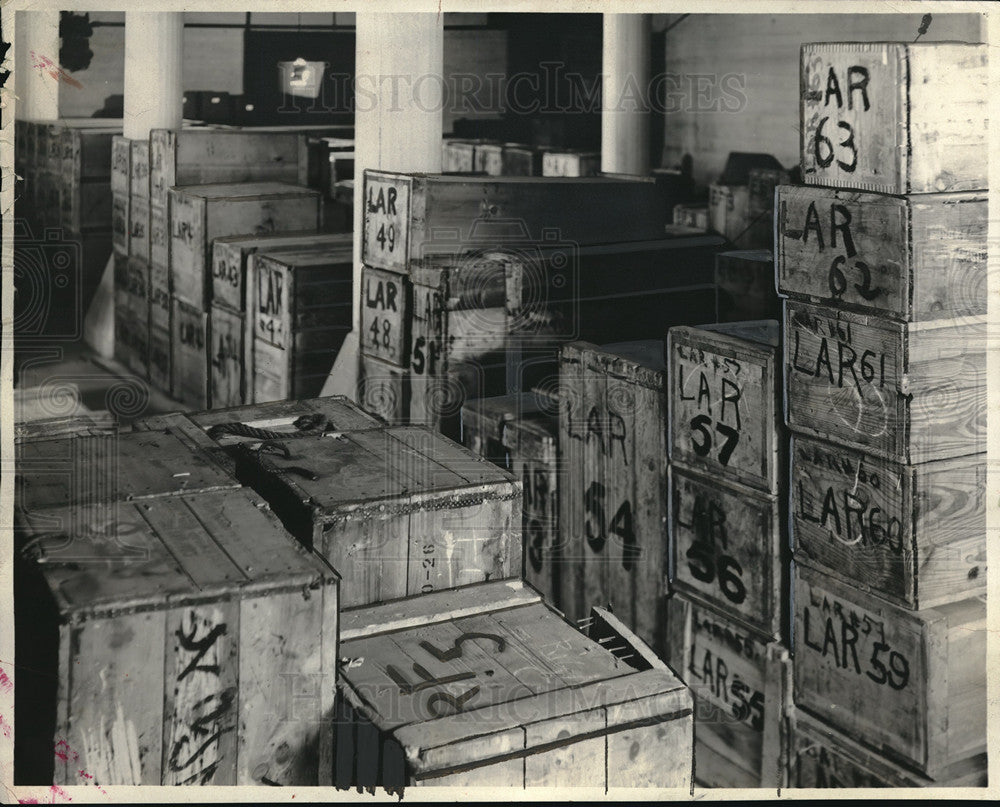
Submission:
[[[58,74],[59,12],[18,11],[14,25],[17,117],[31,121],[56,120],[62,83]]]

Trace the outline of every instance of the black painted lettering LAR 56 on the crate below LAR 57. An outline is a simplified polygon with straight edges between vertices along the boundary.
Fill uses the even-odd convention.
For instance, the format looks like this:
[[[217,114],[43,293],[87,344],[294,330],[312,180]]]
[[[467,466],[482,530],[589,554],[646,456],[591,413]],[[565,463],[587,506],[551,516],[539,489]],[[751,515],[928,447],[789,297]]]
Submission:
[[[685,523],[679,515],[680,491],[674,490],[674,511],[678,513],[678,526],[695,536],[684,553],[688,572],[706,585],[717,581],[727,600],[734,605],[742,604],[747,597],[743,566],[728,554],[725,510],[714,499],[695,495],[691,520]]]

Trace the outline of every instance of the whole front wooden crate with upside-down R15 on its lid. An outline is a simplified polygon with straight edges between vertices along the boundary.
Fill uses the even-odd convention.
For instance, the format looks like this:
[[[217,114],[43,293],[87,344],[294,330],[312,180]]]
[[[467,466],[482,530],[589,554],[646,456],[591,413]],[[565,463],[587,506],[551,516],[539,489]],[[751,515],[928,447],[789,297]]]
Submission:
[[[342,620],[338,787],[690,787],[690,693],[623,627],[635,667],[515,580]]]

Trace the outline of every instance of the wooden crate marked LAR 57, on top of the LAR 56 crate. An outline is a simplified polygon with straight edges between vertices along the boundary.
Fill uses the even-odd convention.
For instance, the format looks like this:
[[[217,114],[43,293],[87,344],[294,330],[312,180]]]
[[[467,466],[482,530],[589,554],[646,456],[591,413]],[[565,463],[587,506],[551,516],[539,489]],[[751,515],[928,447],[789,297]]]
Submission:
[[[670,459],[777,494],[786,463],[774,320],[671,328]]]

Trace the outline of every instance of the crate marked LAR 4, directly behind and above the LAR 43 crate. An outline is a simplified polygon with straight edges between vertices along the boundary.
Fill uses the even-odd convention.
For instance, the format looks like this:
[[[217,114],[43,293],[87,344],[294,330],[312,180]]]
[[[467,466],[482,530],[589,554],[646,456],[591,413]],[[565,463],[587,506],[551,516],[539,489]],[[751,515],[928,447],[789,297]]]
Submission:
[[[211,302],[216,238],[319,226],[319,194],[295,185],[197,185],[171,188],[169,198],[172,293],[199,308]]]

